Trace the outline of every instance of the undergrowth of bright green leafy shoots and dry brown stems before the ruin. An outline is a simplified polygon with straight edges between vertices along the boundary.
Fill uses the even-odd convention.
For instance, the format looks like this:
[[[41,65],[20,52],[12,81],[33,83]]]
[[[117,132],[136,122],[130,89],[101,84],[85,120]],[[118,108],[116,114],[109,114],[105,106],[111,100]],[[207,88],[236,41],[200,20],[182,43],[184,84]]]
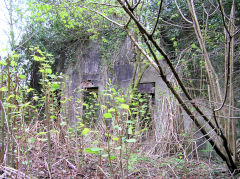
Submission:
[[[40,64],[41,93],[28,88],[17,54],[0,63],[1,178],[228,176],[221,163],[189,152],[189,137],[173,128],[173,111],[170,132],[156,139],[148,97],[109,82],[101,93],[89,92],[89,103],[86,89],[69,95],[64,78],[52,73],[51,55],[30,50]]]

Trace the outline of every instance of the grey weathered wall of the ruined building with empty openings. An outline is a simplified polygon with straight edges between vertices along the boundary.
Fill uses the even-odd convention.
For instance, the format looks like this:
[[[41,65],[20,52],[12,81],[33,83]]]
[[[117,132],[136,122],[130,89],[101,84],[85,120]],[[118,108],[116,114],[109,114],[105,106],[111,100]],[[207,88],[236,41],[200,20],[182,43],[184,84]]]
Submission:
[[[71,108],[71,115],[69,116],[72,123],[75,123],[76,104],[74,101],[82,99],[82,93],[76,93],[76,89],[80,88],[98,88],[102,91],[106,86],[109,79],[113,84],[120,85],[121,88],[127,89],[132,83],[134,62],[135,62],[135,51],[134,46],[129,38],[125,38],[121,48],[116,55],[112,56],[111,61],[113,62],[112,69],[115,75],[110,72],[106,65],[106,61],[101,56],[100,46],[91,40],[85,41],[79,45],[76,52],[76,62],[71,64],[66,71],[66,75],[69,76],[69,80],[66,81],[67,88],[65,94],[73,99],[69,104],[65,104],[67,108]],[[160,140],[161,134],[166,133],[163,124],[168,123],[169,116],[169,103],[163,102],[167,98],[171,97],[167,86],[161,80],[160,76],[156,73],[155,69],[151,66],[144,72],[140,81],[139,89],[142,92],[154,94],[154,127],[155,127],[155,140]],[[76,99],[75,99],[76,98]],[[79,107],[82,110],[81,107]]]

